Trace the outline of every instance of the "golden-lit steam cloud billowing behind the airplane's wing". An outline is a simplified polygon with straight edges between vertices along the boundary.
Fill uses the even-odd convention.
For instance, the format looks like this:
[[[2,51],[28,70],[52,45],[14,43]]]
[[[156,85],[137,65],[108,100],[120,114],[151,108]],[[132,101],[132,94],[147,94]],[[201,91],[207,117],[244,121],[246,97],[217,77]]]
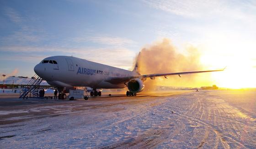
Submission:
[[[139,57],[139,73],[171,73],[205,70],[200,63],[200,53],[193,46],[188,47],[187,55],[176,51],[171,41],[164,38],[161,42],[145,47],[141,50]],[[145,83],[145,91],[150,91],[156,85],[172,87],[201,87],[209,85],[210,74],[190,74],[178,76],[155,77],[155,80],[148,78]]]

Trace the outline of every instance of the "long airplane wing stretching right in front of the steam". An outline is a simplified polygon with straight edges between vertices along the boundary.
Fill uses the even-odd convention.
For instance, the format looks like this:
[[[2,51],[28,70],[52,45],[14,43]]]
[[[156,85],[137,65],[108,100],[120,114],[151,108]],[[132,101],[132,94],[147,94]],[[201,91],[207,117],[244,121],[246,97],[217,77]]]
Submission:
[[[178,75],[179,77],[181,77],[181,75],[183,75],[183,74],[203,73],[203,72],[219,72],[219,71],[224,71],[224,69],[197,71],[197,72],[154,73],[154,74],[147,74],[147,75],[134,75],[134,76],[128,76],[128,77],[109,77],[105,81],[110,82],[112,84],[119,84],[119,83],[128,82],[135,78],[143,79],[143,78],[147,78],[147,77],[160,77],[160,76],[171,76],[171,75]]]

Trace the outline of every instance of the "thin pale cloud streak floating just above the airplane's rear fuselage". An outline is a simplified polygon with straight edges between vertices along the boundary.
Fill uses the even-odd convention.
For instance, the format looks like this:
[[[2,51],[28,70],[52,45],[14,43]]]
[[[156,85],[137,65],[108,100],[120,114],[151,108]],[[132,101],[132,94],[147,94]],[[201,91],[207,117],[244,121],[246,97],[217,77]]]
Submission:
[[[125,46],[125,45],[134,45],[134,44],[136,44],[135,41],[127,39],[127,38],[107,36],[107,35],[78,37],[78,38],[75,38],[74,41],[75,42],[91,41],[91,42],[94,42],[94,43],[100,43],[100,44],[111,45],[111,46]]]

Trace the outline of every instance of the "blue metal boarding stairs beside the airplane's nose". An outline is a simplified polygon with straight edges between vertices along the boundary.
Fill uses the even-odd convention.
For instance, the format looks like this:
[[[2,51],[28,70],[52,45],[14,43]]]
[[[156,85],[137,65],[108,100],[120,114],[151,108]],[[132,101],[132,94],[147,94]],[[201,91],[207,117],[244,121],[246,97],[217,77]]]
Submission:
[[[27,85],[25,87],[22,88],[21,92],[20,92],[20,97],[19,98],[26,98],[27,94],[29,93],[29,98],[39,98],[39,87],[40,87],[40,83],[43,81],[43,79],[39,76],[37,76],[37,74],[35,74],[31,80],[27,83]]]

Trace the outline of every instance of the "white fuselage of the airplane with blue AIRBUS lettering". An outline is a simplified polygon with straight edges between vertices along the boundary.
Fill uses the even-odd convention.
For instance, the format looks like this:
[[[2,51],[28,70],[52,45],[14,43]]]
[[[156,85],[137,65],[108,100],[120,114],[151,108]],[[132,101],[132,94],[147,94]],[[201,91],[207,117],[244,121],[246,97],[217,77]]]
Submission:
[[[48,62],[47,62],[48,61]],[[124,88],[124,83],[111,84],[108,77],[127,77],[137,72],[87,61],[77,57],[54,56],[43,59],[34,71],[56,87]]]

